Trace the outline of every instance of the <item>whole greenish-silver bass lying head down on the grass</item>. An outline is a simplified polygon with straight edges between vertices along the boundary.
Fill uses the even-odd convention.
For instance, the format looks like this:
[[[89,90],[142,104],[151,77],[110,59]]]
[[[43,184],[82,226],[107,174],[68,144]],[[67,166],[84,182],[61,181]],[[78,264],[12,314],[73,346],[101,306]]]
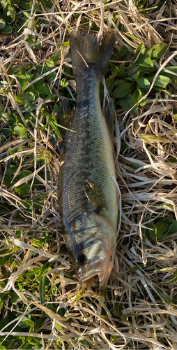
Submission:
[[[63,102],[59,119],[67,127],[61,145],[59,213],[66,245],[79,282],[95,277],[105,290],[114,267],[118,225],[118,191],[114,165],[114,105],[104,113],[100,83],[115,38],[72,31],[70,53],[76,80],[75,110]]]

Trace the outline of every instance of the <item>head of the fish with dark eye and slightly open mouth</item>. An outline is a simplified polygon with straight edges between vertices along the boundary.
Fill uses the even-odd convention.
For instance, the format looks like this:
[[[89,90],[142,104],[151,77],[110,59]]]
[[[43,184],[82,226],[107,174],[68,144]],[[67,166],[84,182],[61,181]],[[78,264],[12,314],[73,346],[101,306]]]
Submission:
[[[70,250],[80,282],[98,276],[99,289],[105,290],[109,275],[114,267],[116,232],[108,221],[93,212],[86,214],[83,232],[76,233]]]

